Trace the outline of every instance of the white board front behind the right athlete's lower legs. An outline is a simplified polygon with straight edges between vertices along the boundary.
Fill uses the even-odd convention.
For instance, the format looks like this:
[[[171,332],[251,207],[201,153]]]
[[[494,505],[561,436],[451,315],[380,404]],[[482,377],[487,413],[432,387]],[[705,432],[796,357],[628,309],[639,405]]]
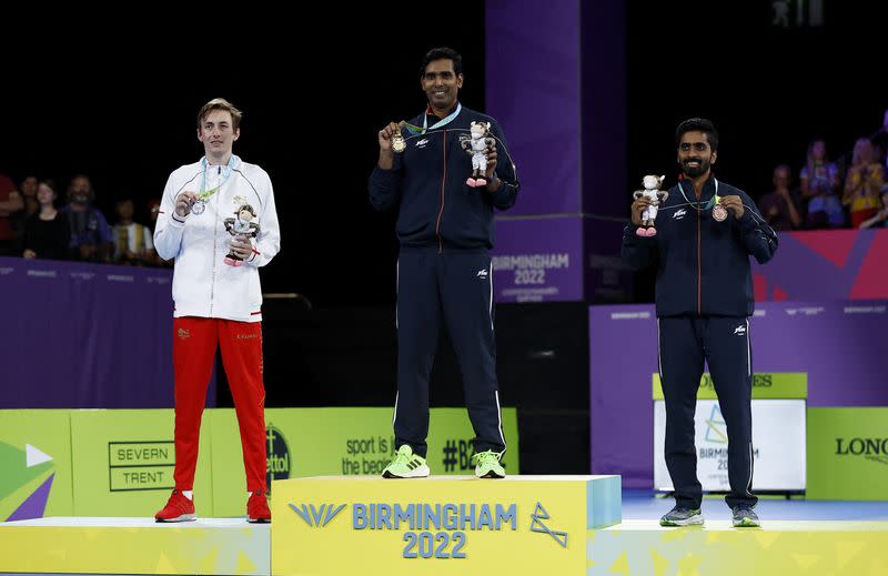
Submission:
[[[718,401],[698,400],[694,414],[697,478],[704,491],[728,492],[728,433]],[[666,403],[654,402],[654,487],[672,491],[664,457]],[[805,401],[753,401],[753,491],[805,489]]]

